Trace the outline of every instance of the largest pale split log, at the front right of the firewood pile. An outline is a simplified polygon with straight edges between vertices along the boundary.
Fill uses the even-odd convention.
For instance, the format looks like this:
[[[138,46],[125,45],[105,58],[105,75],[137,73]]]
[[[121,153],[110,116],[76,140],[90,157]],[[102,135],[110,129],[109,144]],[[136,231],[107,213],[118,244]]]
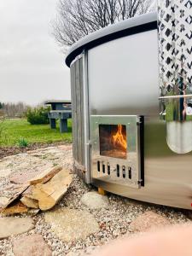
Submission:
[[[61,170],[49,182],[34,185],[32,195],[27,195],[27,197],[37,200],[38,207],[42,211],[49,210],[67,192],[67,188],[72,183],[72,180],[73,174],[67,170]]]

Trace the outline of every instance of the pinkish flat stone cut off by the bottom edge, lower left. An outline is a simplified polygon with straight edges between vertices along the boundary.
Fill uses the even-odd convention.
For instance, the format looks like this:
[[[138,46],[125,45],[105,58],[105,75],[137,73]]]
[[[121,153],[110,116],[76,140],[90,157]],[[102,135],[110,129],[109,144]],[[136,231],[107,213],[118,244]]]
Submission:
[[[51,256],[52,253],[41,235],[20,237],[14,240],[15,256]]]

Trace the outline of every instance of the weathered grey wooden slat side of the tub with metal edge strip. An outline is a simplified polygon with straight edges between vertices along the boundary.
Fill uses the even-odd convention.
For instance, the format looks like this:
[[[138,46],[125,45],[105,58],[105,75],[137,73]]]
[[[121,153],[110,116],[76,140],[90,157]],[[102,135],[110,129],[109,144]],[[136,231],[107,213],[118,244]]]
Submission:
[[[89,112],[87,90],[87,55],[79,55],[71,64],[73,110],[74,170],[90,183]]]

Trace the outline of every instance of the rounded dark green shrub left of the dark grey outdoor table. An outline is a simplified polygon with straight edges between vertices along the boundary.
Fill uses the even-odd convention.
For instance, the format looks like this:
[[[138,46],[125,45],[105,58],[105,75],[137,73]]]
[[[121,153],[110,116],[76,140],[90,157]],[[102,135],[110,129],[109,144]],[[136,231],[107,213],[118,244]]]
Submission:
[[[49,113],[50,108],[28,108],[26,112],[27,121],[31,125],[47,125],[49,124]]]

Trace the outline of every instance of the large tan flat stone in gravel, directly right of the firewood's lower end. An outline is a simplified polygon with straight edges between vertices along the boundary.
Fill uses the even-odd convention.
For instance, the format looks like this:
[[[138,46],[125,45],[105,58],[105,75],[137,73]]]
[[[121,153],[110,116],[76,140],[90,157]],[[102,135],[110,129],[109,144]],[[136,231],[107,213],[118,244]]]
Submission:
[[[63,241],[85,239],[99,231],[96,219],[89,213],[69,208],[45,212],[44,219],[51,230]]]

